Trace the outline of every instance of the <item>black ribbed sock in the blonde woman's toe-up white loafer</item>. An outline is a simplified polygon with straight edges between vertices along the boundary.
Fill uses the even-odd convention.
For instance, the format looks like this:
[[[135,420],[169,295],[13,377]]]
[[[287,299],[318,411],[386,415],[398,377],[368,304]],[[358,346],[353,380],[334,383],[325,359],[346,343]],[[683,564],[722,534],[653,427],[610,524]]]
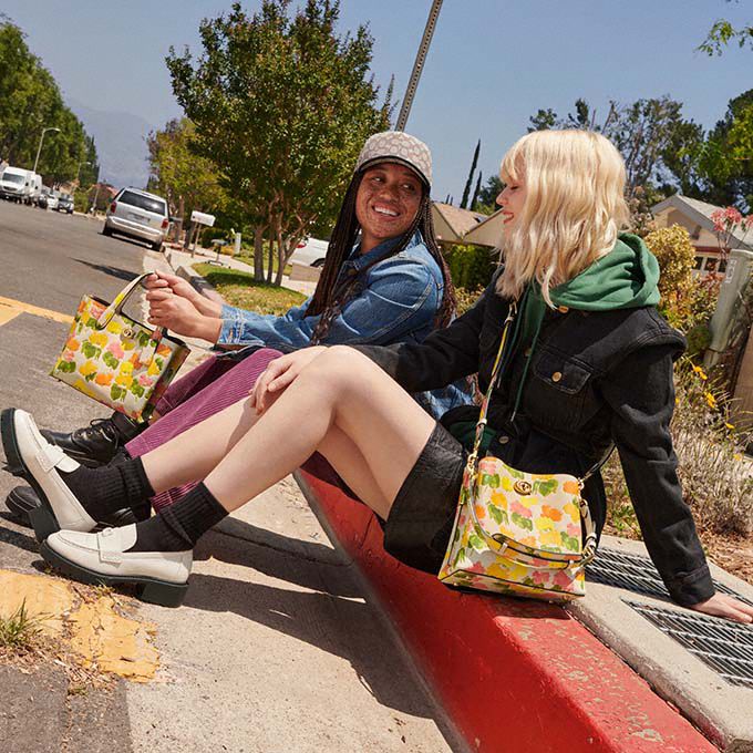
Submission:
[[[60,476],[95,520],[123,507],[143,505],[154,495],[140,457],[101,468],[82,465],[71,473],[60,472]]]

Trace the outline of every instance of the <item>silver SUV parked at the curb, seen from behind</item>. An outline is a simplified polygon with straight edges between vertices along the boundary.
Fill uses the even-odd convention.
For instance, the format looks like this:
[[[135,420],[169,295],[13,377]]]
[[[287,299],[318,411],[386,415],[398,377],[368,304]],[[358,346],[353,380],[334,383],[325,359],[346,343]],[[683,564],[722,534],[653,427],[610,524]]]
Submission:
[[[122,188],[107,207],[102,235],[120,233],[140,238],[159,251],[168,225],[167,203],[162,196],[138,188]]]

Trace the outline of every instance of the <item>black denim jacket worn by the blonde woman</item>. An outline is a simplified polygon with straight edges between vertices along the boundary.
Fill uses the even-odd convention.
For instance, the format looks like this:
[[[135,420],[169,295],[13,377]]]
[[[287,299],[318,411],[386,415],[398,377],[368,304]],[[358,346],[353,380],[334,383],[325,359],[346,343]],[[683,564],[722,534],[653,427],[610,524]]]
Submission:
[[[472,309],[422,344],[357,349],[408,392],[433,390],[476,372],[485,392],[509,309],[494,283]],[[532,473],[582,475],[616,444],[649,554],[672,598],[691,606],[709,599],[714,587],[682,498],[669,432],[672,364],[684,345],[653,307],[547,310],[515,421],[510,413],[525,352],[515,355],[495,388],[488,425],[498,432],[489,452]],[[465,405],[446,413],[442,423],[477,416],[478,408]],[[606,495],[598,474],[586,483],[584,496],[600,532]]]

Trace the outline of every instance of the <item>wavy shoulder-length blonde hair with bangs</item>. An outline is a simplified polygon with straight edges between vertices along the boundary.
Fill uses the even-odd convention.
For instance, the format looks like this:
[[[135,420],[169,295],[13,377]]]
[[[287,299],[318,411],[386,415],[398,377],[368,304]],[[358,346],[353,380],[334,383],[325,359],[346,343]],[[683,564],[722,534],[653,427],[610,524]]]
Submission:
[[[615,246],[629,219],[625,162],[591,131],[535,131],[502,159],[505,183],[525,179],[526,200],[503,239],[505,271],[497,292],[517,299],[536,279],[551,288],[573,279]]]

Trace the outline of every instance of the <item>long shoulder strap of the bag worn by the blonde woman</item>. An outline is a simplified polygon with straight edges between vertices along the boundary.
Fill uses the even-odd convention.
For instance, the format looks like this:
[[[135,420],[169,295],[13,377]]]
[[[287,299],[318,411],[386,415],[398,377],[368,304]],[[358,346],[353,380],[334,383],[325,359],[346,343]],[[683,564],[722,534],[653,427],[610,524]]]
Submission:
[[[513,323],[513,320],[515,319],[516,313],[517,302],[512,301],[509,306],[509,311],[507,312],[507,318],[505,319],[504,328],[502,330],[499,350],[497,351],[497,357],[494,361],[494,368],[492,369],[489,385],[481,403],[481,412],[478,414],[478,423],[476,424],[476,436],[473,443],[473,452],[468,455],[468,460],[465,465],[465,472],[468,474],[468,478],[471,479],[472,485],[470,495],[471,499],[468,504],[471,505],[471,514],[473,516],[474,523],[484,535],[484,538],[487,539],[487,543],[491,539],[492,541],[495,543],[497,547],[503,545],[501,545],[499,541],[497,541],[494,537],[489,536],[484,529],[484,526],[481,525],[478,517],[476,516],[475,505],[473,504],[473,497],[475,497],[476,482],[478,478],[478,450],[481,447],[481,441],[484,436],[484,429],[486,429],[486,415],[488,413],[489,403],[492,402],[492,393],[494,391],[494,385],[502,374],[502,367],[504,361],[503,357],[505,353],[505,347],[507,345],[507,337],[509,334],[509,328]],[[586,481],[590,476],[592,476],[609,460],[613,451],[615,445],[612,444],[610,451],[607,453],[607,455],[605,455],[605,457],[602,457],[598,463],[590,467],[582,477],[576,478],[580,489],[582,489]],[[580,564],[587,565],[596,556],[597,536],[596,527],[594,526],[594,518],[591,517],[591,510],[588,506],[588,503],[582,497],[580,497],[579,499],[580,501],[578,506],[580,508],[580,518],[582,519],[584,529],[586,530],[586,539],[584,540],[582,545],[582,557],[580,559]],[[504,546],[506,548],[506,545]],[[502,549],[502,551],[504,551],[504,549]]]

